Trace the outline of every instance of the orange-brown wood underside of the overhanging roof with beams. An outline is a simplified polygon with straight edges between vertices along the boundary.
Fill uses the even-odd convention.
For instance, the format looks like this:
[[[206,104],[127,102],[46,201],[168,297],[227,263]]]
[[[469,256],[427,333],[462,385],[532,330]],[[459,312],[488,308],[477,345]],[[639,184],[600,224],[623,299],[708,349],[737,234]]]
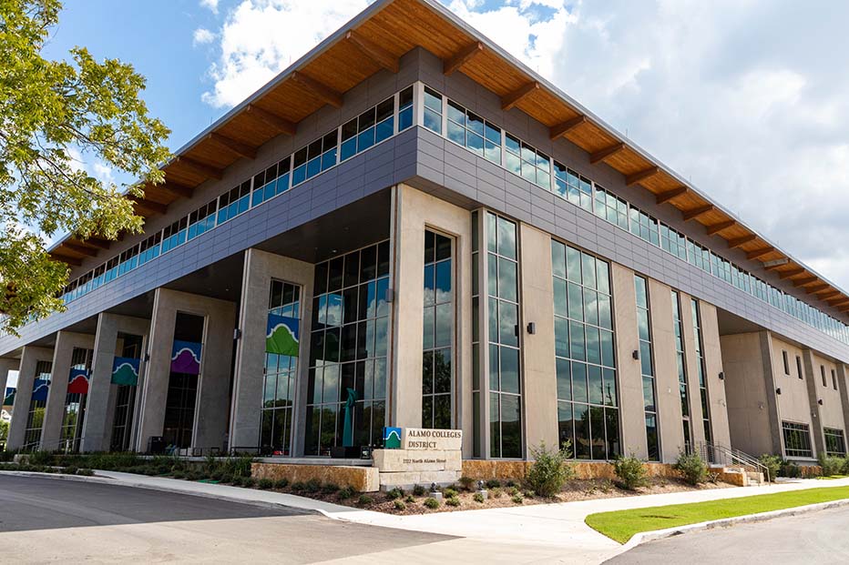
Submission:
[[[163,167],[166,183],[145,187],[145,197],[135,204],[138,214],[166,213],[171,203],[191,197],[192,190],[204,181],[220,178],[238,159],[254,158],[257,149],[271,138],[293,135],[302,119],[325,104],[341,106],[344,93],[369,76],[381,69],[396,72],[401,56],[421,46],[442,58],[445,74],[464,73],[501,96],[504,108],[518,108],[548,126],[552,139],[565,137],[587,151],[591,162],[605,163],[619,171],[628,185],[650,191],[659,205],[678,208],[685,220],[700,223],[709,234],[725,239],[729,248],[741,249],[750,259],[766,264],[812,298],[844,313],[849,310],[844,306],[849,304],[849,296],[842,289],[731,217],[670,169],[589,116],[578,103],[547,86],[542,78],[431,2],[384,0],[366,10],[351,27],[326,40],[181,150]],[[68,237],[51,253],[70,265],[79,265],[90,256],[89,251],[106,247],[103,240]]]

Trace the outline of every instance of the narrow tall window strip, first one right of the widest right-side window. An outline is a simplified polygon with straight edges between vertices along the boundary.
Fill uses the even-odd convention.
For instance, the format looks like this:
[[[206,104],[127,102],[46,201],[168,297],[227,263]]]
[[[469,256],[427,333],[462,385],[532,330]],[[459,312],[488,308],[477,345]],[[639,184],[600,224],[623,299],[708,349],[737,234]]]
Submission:
[[[651,320],[649,314],[649,285],[643,277],[634,277],[637,293],[637,334],[639,336],[639,373],[642,375],[643,408],[646,411],[646,445],[649,460],[660,461],[660,433],[658,427],[658,391],[654,379],[654,361],[651,348]]]

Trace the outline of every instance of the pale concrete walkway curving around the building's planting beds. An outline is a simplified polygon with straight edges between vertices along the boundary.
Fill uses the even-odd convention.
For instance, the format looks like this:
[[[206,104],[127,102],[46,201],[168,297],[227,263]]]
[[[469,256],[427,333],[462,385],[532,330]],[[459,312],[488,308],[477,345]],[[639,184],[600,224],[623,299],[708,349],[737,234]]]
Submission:
[[[84,479],[84,478],[74,478]],[[460,536],[468,540],[550,550],[561,562],[600,563],[625,547],[590,529],[584,520],[588,514],[628,510],[705,500],[731,499],[789,490],[849,486],[849,479],[797,479],[764,487],[706,489],[689,492],[592,499],[560,504],[537,504],[490,510],[439,512],[416,516],[394,516],[369,510],[357,510],[337,504],[267,490],[242,489],[177,479],[145,477],[112,471],[97,471],[88,480],[109,481],[126,486],[194,494],[217,499],[232,499],[261,505],[283,505],[321,512],[335,520],[360,524]]]

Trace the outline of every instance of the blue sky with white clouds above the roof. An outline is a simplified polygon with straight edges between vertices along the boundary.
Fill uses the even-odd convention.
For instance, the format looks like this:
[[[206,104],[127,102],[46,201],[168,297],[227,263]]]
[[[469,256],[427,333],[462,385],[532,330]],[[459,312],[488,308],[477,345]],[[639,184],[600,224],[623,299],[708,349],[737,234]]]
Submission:
[[[443,2],[849,288],[849,3]],[[177,149],[369,4],[68,0],[46,55],[86,45],[98,58],[132,63]]]

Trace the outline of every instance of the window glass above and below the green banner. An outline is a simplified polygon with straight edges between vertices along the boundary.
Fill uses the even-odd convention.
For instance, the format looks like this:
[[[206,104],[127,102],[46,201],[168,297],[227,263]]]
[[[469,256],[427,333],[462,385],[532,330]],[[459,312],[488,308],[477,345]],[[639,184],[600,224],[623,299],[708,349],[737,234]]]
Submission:
[[[300,320],[301,287],[272,280],[269,314]],[[292,411],[298,358],[266,352],[264,372],[260,451],[271,455],[292,455]]]

